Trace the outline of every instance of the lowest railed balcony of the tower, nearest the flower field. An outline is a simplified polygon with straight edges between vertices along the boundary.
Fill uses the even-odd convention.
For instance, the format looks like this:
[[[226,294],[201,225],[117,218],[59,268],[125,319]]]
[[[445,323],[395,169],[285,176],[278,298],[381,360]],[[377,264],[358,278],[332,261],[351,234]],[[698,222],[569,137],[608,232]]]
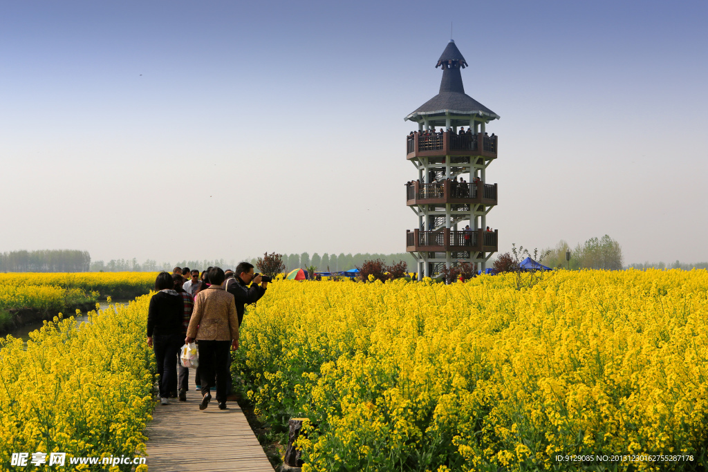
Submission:
[[[485,231],[472,229],[469,231],[421,231],[415,229],[406,231],[406,251],[440,252],[440,251],[478,251],[484,253],[498,252],[498,230]],[[467,237],[469,236],[469,237]]]

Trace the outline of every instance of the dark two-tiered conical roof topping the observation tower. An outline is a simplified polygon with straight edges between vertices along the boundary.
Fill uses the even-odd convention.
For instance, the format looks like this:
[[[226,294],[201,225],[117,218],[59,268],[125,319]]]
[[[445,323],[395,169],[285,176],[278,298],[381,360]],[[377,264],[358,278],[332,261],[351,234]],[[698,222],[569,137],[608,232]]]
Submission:
[[[467,65],[455,41],[450,40],[442,51],[436,68],[442,66],[442,80],[438,95],[423,103],[416,111],[406,116],[404,120],[427,120],[437,122],[445,115],[481,115],[486,120],[496,120],[499,115],[474,98],[464,93],[461,69]]]

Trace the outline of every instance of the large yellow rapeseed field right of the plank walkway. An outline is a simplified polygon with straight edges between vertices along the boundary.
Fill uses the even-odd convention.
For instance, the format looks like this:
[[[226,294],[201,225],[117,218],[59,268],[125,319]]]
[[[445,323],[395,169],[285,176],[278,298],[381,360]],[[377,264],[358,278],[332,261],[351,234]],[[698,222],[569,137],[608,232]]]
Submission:
[[[309,418],[307,472],[702,470],[707,289],[705,270],[278,281],[232,369],[276,427]]]

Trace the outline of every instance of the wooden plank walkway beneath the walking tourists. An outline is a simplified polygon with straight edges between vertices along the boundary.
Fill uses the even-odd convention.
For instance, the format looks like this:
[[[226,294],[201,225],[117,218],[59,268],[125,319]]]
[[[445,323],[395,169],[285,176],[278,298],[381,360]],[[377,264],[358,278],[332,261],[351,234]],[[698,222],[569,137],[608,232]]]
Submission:
[[[236,402],[219,410],[215,391],[206,410],[199,409],[195,369],[189,372],[187,401],[170,398],[156,405],[147,426],[150,472],[273,472],[261,444]]]

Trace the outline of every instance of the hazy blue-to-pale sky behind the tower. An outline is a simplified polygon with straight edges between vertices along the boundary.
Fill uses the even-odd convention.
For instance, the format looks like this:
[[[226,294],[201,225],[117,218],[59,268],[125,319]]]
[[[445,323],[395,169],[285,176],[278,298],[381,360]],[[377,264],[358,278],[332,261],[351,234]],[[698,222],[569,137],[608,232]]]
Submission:
[[[1,1],[0,251],[405,251],[451,20],[500,251],[708,260],[708,2],[639,0]]]

